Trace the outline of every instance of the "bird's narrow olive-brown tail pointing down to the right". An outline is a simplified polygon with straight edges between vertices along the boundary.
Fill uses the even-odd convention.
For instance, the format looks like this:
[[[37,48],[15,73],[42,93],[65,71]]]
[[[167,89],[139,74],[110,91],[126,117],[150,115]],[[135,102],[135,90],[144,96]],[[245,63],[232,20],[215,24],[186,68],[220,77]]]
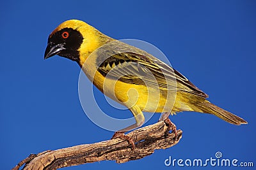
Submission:
[[[226,122],[234,125],[241,125],[241,124],[247,124],[245,120],[241,117],[237,117],[237,115],[234,115],[230,113],[229,111],[223,110],[220,107],[209,103],[208,101],[204,101],[202,103],[196,104],[197,108],[202,110],[200,112],[203,113],[210,113],[212,115],[216,115],[217,117],[221,118],[222,120],[225,120]]]

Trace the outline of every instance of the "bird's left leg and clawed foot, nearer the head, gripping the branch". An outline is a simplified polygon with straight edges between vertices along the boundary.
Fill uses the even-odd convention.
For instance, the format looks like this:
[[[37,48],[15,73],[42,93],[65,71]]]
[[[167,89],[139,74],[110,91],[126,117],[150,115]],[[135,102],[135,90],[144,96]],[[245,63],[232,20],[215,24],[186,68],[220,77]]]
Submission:
[[[120,131],[115,132],[115,134],[113,135],[113,137],[111,139],[120,138],[120,139],[127,140],[128,143],[132,145],[132,150],[134,150],[134,148],[135,148],[134,140],[131,137],[125,135],[124,133],[143,125],[145,118],[144,118],[142,111],[137,106],[133,106],[132,108],[130,108],[130,110],[131,110],[132,114],[134,115],[136,123],[133,125],[130,125],[129,127],[125,127],[124,129],[122,129]]]

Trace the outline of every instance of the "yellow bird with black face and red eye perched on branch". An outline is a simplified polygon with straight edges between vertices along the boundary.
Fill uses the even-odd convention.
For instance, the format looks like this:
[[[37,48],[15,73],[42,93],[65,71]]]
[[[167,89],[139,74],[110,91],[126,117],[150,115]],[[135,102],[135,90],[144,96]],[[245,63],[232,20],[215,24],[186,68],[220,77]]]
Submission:
[[[175,136],[177,129],[169,115],[182,111],[209,113],[234,125],[247,124],[210,103],[207,94],[170,65],[82,20],[66,20],[49,34],[44,59],[54,55],[77,62],[97,89],[129,108],[136,123],[116,131],[112,138],[125,139],[132,148],[134,141],[125,132],[143,125],[143,111],[162,113],[159,121]]]

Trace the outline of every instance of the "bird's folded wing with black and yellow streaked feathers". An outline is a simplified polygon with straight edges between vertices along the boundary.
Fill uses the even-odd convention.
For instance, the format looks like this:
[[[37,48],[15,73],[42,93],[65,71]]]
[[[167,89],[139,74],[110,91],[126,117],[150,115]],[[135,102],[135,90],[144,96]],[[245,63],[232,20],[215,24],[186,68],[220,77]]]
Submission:
[[[208,97],[185,76],[149,53],[125,43],[120,43],[118,48],[111,50],[108,48],[104,52],[104,55],[108,56],[106,59],[100,58],[100,53],[98,53],[98,71],[103,76],[125,83],[147,85],[161,90],[177,90],[178,92]],[[128,48],[127,52],[124,52],[124,48]]]

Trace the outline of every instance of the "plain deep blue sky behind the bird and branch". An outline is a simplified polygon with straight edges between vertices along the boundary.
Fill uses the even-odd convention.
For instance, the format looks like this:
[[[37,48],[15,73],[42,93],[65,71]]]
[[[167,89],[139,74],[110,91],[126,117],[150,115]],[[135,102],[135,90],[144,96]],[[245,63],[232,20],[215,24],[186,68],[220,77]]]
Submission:
[[[44,60],[51,31],[77,18],[116,39],[157,46],[172,66],[209,94],[209,101],[248,121],[228,124],[212,115],[171,117],[180,143],[125,164],[95,162],[64,169],[220,169],[166,167],[164,160],[223,158],[255,161],[255,1],[1,1],[1,169],[30,153],[111,138],[83,113],[77,93],[79,66],[61,57]],[[95,90],[102,108],[104,103]],[[118,111],[116,111],[118,112]],[[122,112],[131,114],[128,111]],[[119,114],[119,113],[118,113]],[[147,124],[157,122],[154,115]],[[247,168],[252,169],[252,168]]]

